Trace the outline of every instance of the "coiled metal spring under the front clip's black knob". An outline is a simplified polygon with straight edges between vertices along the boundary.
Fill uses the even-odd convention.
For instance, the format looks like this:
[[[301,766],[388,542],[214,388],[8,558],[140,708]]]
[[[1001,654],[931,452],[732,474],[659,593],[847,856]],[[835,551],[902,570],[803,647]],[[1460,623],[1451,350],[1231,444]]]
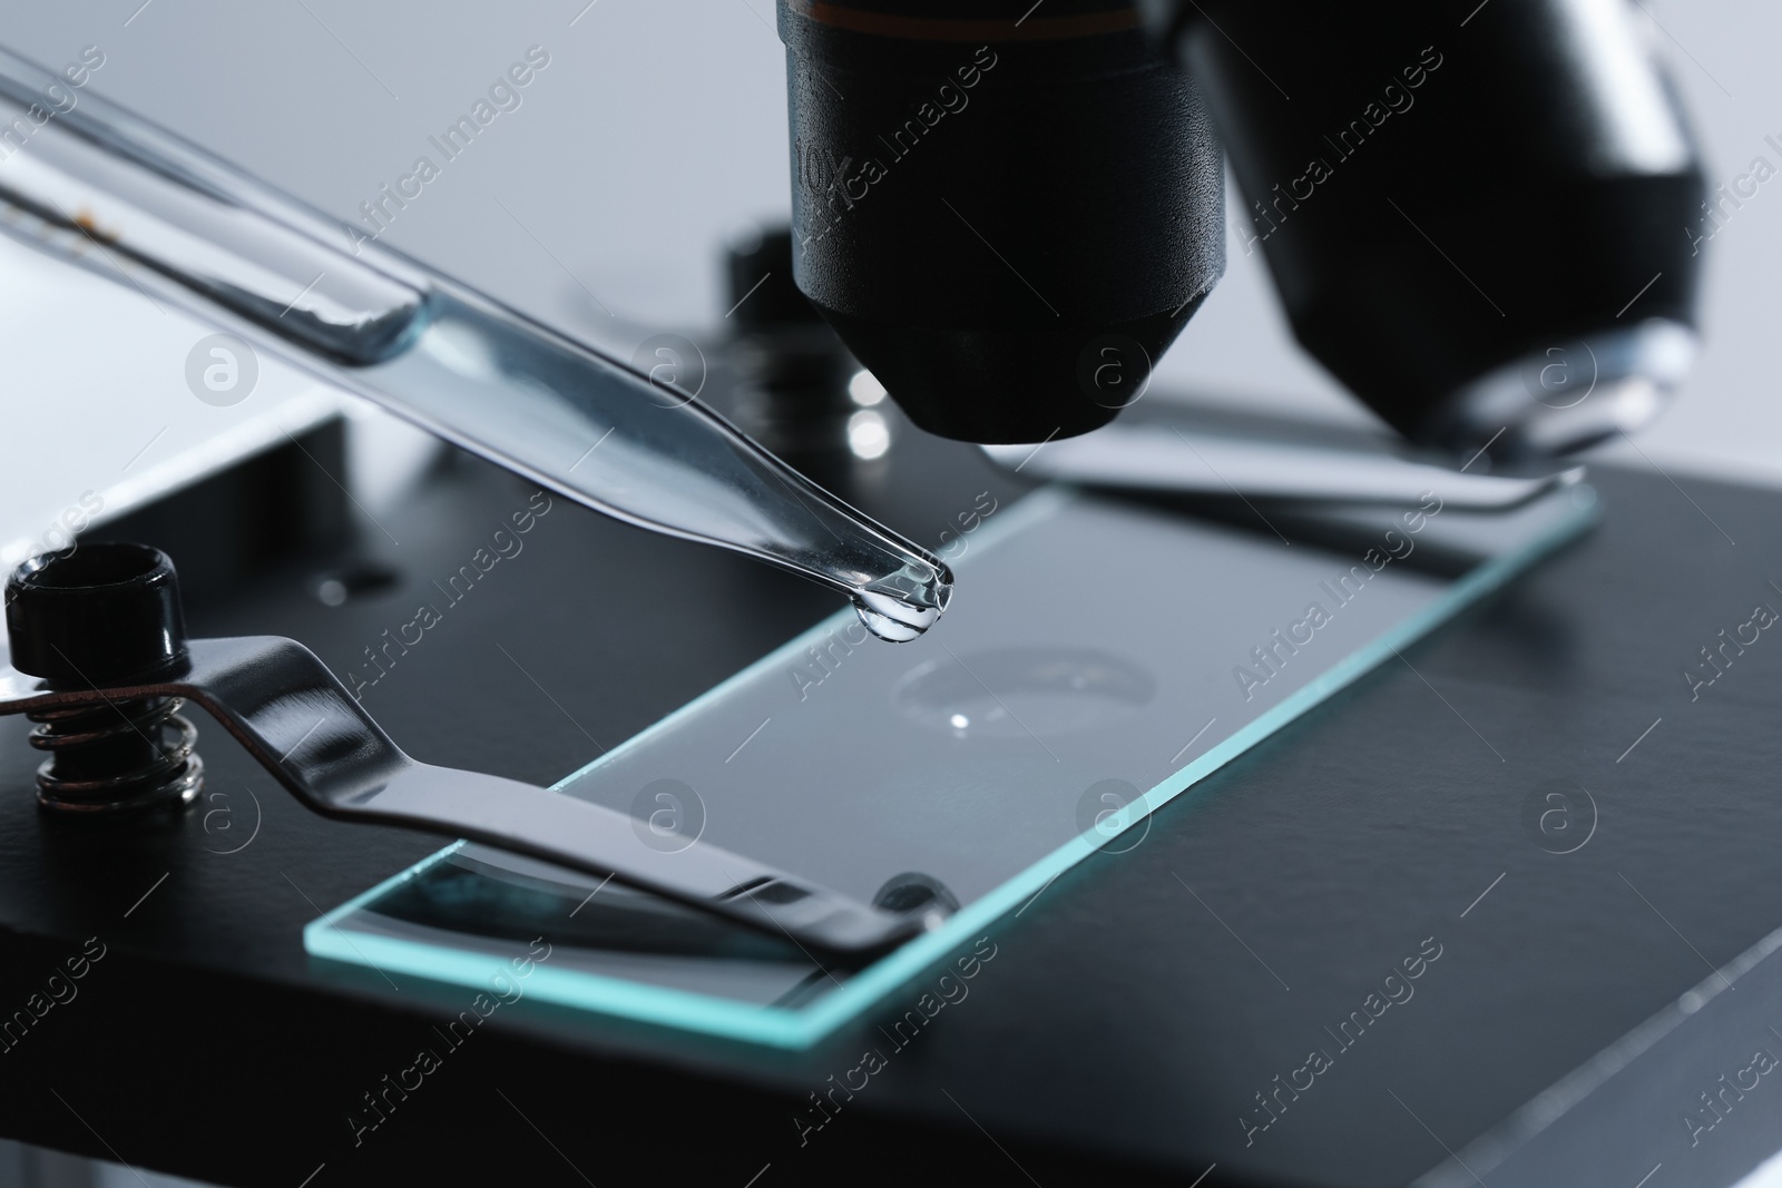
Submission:
[[[27,714],[37,723],[30,745],[50,752],[37,768],[37,803],[80,814],[192,803],[205,764],[180,705],[176,696],[143,696]]]

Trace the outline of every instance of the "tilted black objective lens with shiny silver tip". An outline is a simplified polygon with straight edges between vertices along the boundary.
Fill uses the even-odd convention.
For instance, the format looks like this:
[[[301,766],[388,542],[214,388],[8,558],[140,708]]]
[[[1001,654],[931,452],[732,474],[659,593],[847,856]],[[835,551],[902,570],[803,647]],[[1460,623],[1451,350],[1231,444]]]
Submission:
[[[1151,0],[1299,342],[1406,436],[1638,427],[1695,346],[1704,182],[1627,5]]]

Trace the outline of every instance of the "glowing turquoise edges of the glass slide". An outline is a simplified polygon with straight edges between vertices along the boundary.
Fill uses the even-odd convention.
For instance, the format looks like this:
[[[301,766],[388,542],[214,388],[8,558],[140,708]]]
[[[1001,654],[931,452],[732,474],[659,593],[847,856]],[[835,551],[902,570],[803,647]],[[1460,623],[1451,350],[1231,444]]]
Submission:
[[[1046,488],[1035,492],[1028,499],[1021,500],[1021,504],[1016,504],[1016,509],[1025,511],[1025,515],[1010,517],[1007,522],[996,525],[987,524],[985,529],[998,527],[1001,531],[982,543],[993,545],[994,541],[1003,540],[1044,517],[1050,517],[1069,502],[1071,497],[1073,495],[1064,488]],[[1139,821],[1148,819],[1151,812],[1164,807],[1224,764],[1231,762],[1246,750],[1290,723],[1294,718],[1299,718],[1308,709],[1353,684],[1379,663],[1397,655],[1401,647],[1410,647],[1449,618],[1459,614],[1470,604],[1502,588],[1504,582],[1522,570],[1581,536],[1588,527],[1591,527],[1591,524],[1595,524],[1597,518],[1598,502],[1595,490],[1582,484],[1575,486],[1572,488],[1572,515],[1541,536],[1531,540],[1524,549],[1477,565],[1427,607],[1406,616],[1401,623],[1386,631],[1372,643],[1356,648],[1317,677],[1312,684],[1290,695],[1279,705],[1263,712],[1260,718],[1242,727],[1237,734],[1224,739],[1174,775],[1165,777],[1140,798],[1146,810],[1142,814],[1133,814],[1119,828],[1119,832],[1112,835],[1096,834],[1094,841],[1089,841],[1089,834],[1073,837],[1009,882],[955,912],[953,917],[948,919],[939,930],[918,937],[903,948],[882,956],[873,965],[868,965],[852,976],[839,990],[823,996],[809,1006],[798,1010],[786,1010],[779,1006],[747,1006],[711,997],[707,994],[643,987],[634,981],[551,969],[547,965],[538,965],[533,971],[529,990],[540,999],[560,1003],[563,1006],[595,1010],[608,1015],[665,1024],[686,1031],[702,1031],[707,1035],[720,1035],[732,1040],[781,1049],[811,1047],[846,1021],[871,1008],[871,1005],[879,999],[887,997],[898,987],[921,976],[934,964],[968,942],[971,933],[993,924],[1018,903],[1037,896],[1051,885],[1051,880],[1059,875],[1087,858],[1098,848],[1105,846],[1110,837],[1117,837]],[[811,631],[800,634],[784,647],[775,648],[734,677],[688,702],[656,725],[642,730],[633,739],[613,748],[608,755],[595,759],[592,764],[560,780],[552,787],[561,789],[599,764],[609,762],[613,755],[622,753],[627,746],[638,745],[661,730],[672,728],[672,725],[684,714],[690,714],[707,700],[720,696],[732,684],[752,675],[757,668],[777,664],[788,655],[797,655],[809,647],[813,639],[818,639],[827,631],[832,631],[836,623],[852,620],[852,616],[854,611],[848,609],[825,618]],[[460,846],[463,846],[463,842],[453,842],[446,850],[428,855],[406,871],[387,878],[364,894],[347,899],[344,905],[328,912],[321,919],[312,921],[303,930],[303,948],[314,956],[340,960],[355,965],[374,962],[380,967],[390,967],[435,981],[479,985],[481,980],[501,964],[497,958],[488,955],[470,955],[456,949],[442,949],[394,937],[355,933],[355,939],[347,939],[339,928],[339,921],[342,917],[360,910],[369,901],[399,887],[406,880],[415,878],[435,862],[440,862],[456,851]]]

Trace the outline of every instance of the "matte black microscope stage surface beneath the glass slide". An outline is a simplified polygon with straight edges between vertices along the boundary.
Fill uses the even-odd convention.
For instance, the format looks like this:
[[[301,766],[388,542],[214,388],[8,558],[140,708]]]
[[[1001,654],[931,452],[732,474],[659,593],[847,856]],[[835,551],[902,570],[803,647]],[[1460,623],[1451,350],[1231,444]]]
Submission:
[[[0,1013],[89,937],[103,946],[73,1001],[9,1037],[0,1129],[280,1188],[1053,1188],[1187,1184],[1210,1165],[1205,1188],[1431,1170],[1634,1188],[1655,1165],[1647,1188],[1732,1183],[1782,1147],[1782,1085],[1753,1063],[1782,1054],[1782,969],[1713,994],[1714,967],[1782,928],[1782,639],[1764,631],[1696,700],[1682,673],[1759,602],[1782,607],[1782,495],[1606,467],[1593,481],[1591,536],[1165,807],[1144,844],[1000,921],[969,999],[802,1140],[809,1095],[884,1046],[871,1026],[763,1056],[520,1003],[355,1145],[347,1113],[470,994],[312,964],[301,930],[440,842],[308,814],[203,716],[207,789],[226,800],[148,830],[73,828],[39,816],[25,723],[0,721]],[[848,493],[934,543],[985,486],[1018,493],[973,451],[912,440]],[[194,581],[192,634],[289,634],[347,670],[527,493],[451,458],[381,517],[388,536],[362,522],[339,556],[223,591]],[[210,524],[203,500],[241,497],[212,488],[162,527],[125,527],[180,561],[196,549],[180,520]],[[319,574],[367,565],[394,584],[315,600]],[[560,499],[365,704],[419,759],[552,782],[593,739],[634,734],[834,606]],[[1550,853],[1531,823],[1547,791],[1572,796],[1574,837],[1595,816],[1575,853]],[[253,842],[221,853],[257,814]],[[1340,1022],[1436,946],[1413,997],[1342,1047]],[[1638,1060],[1611,1053],[1602,1074],[1625,1067],[1600,1088],[1575,1078],[1524,1111],[1524,1131],[1557,1115],[1533,1143],[1500,1129],[1696,987],[1700,1008],[1636,1037]],[[1265,1111],[1256,1095],[1304,1085],[1312,1049],[1329,1067]],[[1493,1131],[1495,1154],[1468,1151]]]

